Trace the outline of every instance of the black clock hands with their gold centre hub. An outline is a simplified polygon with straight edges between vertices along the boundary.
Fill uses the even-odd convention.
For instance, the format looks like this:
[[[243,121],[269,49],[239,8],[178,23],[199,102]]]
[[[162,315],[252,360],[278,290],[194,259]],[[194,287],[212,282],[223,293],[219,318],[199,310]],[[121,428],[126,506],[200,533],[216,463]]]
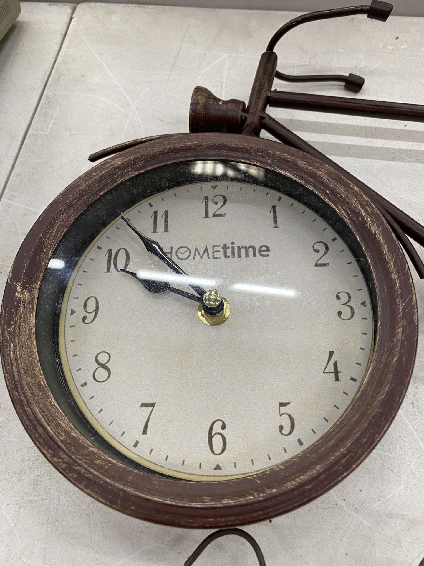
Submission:
[[[185,273],[185,271],[183,271],[183,269],[181,269],[175,261],[166,255],[165,251],[163,251],[163,248],[158,242],[142,234],[124,216],[121,216],[121,219],[137,234],[150,254],[163,261],[163,263],[165,263],[174,273],[187,276],[187,273]],[[172,287],[167,281],[142,279],[137,275],[137,273],[128,271],[127,269],[121,269],[120,271],[128,273],[128,275],[136,278],[145,289],[150,291],[150,293],[165,293],[165,291],[171,291],[171,293],[181,295],[181,297],[185,297],[199,303],[197,307],[199,318],[202,322],[209,326],[222,324],[227,320],[228,316],[230,316],[230,305],[228,304],[228,301],[224,299],[224,297],[222,297],[216,289],[205,291],[205,289],[201,286],[187,282],[187,285],[197,293],[197,296],[192,293],[187,293],[187,291],[182,291],[181,289]]]

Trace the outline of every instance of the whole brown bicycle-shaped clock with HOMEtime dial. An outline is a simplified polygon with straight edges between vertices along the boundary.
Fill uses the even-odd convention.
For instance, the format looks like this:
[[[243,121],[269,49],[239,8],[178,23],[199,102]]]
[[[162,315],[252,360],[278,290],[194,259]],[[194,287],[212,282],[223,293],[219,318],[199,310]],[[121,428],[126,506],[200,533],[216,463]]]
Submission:
[[[162,524],[247,524],[323,494],[390,426],[417,347],[400,243],[422,275],[405,234],[424,229],[266,113],[422,120],[416,105],[271,91],[293,79],[276,74],[288,29],[390,11],[285,24],[247,108],[195,89],[190,134],[93,155],[115,154],[29,232],[3,298],[6,382],[38,448],[94,498]]]

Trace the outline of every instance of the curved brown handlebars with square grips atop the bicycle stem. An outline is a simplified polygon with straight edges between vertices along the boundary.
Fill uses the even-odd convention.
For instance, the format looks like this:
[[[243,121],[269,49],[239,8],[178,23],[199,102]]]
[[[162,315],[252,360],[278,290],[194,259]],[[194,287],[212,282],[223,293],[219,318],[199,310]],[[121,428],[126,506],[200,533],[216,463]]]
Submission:
[[[280,29],[271,37],[267,45],[267,51],[274,51],[276,44],[279,40],[291,29],[306,22],[315,22],[316,20],[326,20],[329,18],[339,18],[341,16],[351,16],[356,14],[367,14],[368,18],[386,22],[393,10],[393,5],[388,2],[380,2],[373,0],[369,6],[350,6],[345,8],[334,8],[333,10],[321,10],[318,12],[310,12],[293,18],[285,23]],[[345,88],[349,91],[359,92],[364,85],[365,79],[362,76],[349,73],[345,75],[286,75],[280,71],[275,72],[277,79],[286,80],[288,82],[327,82],[336,81],[344,83]]]

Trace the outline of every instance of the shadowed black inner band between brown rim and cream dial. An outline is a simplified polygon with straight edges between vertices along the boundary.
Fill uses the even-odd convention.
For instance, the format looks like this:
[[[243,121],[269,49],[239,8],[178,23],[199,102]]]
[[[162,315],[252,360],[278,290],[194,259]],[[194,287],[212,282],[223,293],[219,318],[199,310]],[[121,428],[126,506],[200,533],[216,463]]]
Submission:
[[[227,173],[220,175],[200,174],[194,172],[195,168],[193,167],[194,164],[198,163],[198,161],[177,162],[145,171],[111,188],[90,204],[63,235],[52,256],[54,259],[63,260],[65,267],[63,269],[47,268],[45,270],[37,298],[36,342],[38,357],[46,383],[60,409],[73,426],[97,448],[115,460],[154,475],[163,476],[164,474],[146,468],[146,466],[124,456],[92,427],[70,392],[59,355],[60,309],[73,270],[93,239],[128,208],[159,192],[191,183],[252,183],[281,192],[317,213],[330,224],[349,247],[364,275],[369,290],[374,316],[374,341],[377,332],[377,298],[370,265],[365,259],[365,254],[357,238],[334,208],[309,188],[286,175],[276,173],[276,171],[262,169],[264,178],[261,180],[249,174],[248,170],[240,168],[239,164],[228,161],[208,161],[209,164],[224,165],[225,171],[235,171],[236,176],[229,176]],[[170,475],[165,477],[172,478]]]

